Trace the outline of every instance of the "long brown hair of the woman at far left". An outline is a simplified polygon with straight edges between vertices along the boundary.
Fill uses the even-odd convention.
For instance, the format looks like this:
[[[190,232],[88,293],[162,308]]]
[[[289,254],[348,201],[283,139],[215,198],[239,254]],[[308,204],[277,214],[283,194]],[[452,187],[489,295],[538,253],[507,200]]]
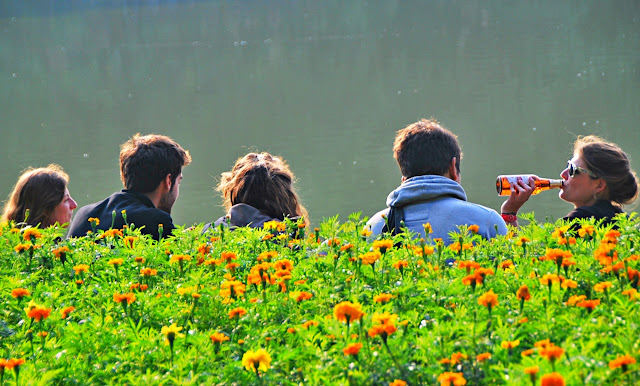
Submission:
[[[48,227],[51,214],[64,198],[69,176],[56,164],[25,170],[4,206],[2,221]],[[25,221],[27,210],[29,217]]]

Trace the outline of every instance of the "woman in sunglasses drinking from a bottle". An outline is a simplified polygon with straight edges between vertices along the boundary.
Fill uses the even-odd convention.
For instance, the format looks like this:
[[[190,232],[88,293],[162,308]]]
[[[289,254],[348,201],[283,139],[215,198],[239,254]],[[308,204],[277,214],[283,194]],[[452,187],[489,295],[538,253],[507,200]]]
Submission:
[[[563,184],[559,197],[574,206],[565,220],[593,218],[609,223],[623,213],[622,205],[638,196],[638,178],[627,154],[615,143],[595,135],[576,139],[573,158],[560,177]],[[501,207],[508,224],[518,225],[516,213],[531,196],[537,179],[533,176],[511,185],[511,195]]]

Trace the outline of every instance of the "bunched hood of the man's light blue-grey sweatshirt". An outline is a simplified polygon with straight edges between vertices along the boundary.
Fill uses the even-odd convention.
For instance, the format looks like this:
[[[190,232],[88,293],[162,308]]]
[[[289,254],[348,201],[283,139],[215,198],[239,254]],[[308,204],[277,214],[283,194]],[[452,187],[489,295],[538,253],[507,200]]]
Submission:
[[[425,189],[427,188],[428,189]],[[411,177],[387,196],[387,206],[405,206],[450,196],[467,201],[467,195],[459,183],[437,175]]]

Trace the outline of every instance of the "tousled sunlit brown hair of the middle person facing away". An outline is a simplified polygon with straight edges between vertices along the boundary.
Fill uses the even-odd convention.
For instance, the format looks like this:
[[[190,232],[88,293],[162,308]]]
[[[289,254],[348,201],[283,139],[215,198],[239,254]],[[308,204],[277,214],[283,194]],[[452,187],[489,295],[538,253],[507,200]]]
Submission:
[[[217,190],[227,211],[242,203],[280,220],[301,216],[308,226],[309,216],[293,188],[294,181],[282,158],[266,152],[249,153],[238,158],[230,172],[222,173]]]

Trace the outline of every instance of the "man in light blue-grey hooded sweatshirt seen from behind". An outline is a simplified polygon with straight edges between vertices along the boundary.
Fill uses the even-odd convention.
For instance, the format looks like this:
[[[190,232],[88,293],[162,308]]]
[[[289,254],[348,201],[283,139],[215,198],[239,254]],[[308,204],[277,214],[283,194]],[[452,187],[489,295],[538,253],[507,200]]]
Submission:
[[[402,223],[422,237],[451,240],[460,225],[477,225],[484,238],[506,234],[502,217],[493,209],[467,201],[460,186],[462,151],[457,137],[435,119],[422,119],[399,130],[393,156],[402,172],[402,184],[387,197],[389,208],[367,223],[371,231],[400,233]],[[424,225],[433,230],[425,234]]]

